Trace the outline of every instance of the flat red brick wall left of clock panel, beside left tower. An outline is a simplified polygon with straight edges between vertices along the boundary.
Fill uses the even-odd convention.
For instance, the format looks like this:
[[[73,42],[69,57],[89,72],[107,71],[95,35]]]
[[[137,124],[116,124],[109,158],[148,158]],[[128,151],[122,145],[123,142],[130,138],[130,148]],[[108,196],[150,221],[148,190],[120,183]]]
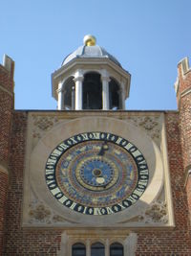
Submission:
[[[56,255],[61,231],[22,227],[23,177],[27,113],[15,112],[11,136],[11,186],[8,197],[6,245],[3,255]]]

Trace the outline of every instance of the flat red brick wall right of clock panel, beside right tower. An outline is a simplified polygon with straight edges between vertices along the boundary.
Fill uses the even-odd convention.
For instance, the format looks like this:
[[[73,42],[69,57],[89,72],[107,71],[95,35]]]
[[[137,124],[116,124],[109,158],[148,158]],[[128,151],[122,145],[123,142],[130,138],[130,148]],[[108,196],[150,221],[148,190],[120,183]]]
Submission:
[[[171,231],[140,232],[137,255],[191,255],[178,113],[166,114],[166,129],[176,227]]]

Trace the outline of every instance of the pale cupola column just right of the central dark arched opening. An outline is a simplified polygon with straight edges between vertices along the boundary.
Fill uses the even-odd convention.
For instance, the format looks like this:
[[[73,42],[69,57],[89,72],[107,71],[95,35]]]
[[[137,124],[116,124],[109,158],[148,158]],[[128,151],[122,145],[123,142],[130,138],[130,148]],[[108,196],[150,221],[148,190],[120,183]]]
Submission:
[[[110,108],[110,101],[109,101],[109,81],[110,78],[106,72],[103,72],[101,75],[102,81],[102,109],[109,110]]]

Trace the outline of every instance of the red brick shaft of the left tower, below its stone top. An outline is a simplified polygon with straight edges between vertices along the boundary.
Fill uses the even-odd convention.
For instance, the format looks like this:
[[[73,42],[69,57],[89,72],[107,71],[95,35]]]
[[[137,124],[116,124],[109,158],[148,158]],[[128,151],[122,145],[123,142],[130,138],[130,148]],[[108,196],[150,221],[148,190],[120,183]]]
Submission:
[[[13,72],[13,71],[12,71]],[[9,186],[11,115],[13,109],[13,73],[0,65],[0,255],[5,229],[5,211]]]

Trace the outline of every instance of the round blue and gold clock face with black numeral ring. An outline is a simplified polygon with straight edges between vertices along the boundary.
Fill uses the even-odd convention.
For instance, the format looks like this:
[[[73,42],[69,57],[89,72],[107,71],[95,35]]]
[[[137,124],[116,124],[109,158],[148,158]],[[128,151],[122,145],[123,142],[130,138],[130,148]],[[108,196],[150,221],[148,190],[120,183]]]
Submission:
[[[80,214],[100,216],[135,204],[147,187],[149,170],[131,142],[94,131],[61,142],[47,160],[45,177],[59,203]]]

